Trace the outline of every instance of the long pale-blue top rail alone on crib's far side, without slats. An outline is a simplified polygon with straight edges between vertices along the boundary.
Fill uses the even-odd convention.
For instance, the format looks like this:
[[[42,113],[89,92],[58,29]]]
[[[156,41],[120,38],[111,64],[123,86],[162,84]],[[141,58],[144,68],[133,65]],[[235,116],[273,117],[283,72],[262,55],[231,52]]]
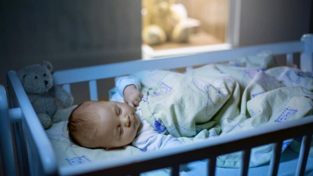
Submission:
[[[230,50],[211,51],[201,54],[160,58],[155,60],[135,60],[70,70],[60,70],[54,72],[53,84],[63,85],[76,82],[112,78],[121,75],[128,75],[141,70],[175,69],[216,62],[224,62],[229,60],[235,60],[247,55],[258,54],[259,52],[264,50],[270,50],[274,55],[299,53],[303,52],[304,48],[304,42],[296,41],[260,46],[250,46]]]

